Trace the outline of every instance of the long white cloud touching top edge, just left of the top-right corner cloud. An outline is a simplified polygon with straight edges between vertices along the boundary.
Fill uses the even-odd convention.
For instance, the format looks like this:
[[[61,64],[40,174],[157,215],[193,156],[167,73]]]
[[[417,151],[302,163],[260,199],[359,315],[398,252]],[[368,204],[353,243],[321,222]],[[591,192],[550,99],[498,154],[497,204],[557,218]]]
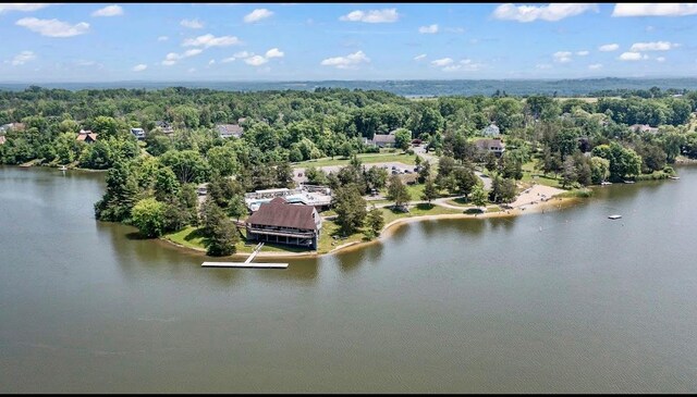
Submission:
[[[513,3],[501,4],[493,11],[497,20],[517,22],[559,21],[568,16],[583,14],[587,11],[598,12],[596,3],[552,3],[549,5],[518,5]]]

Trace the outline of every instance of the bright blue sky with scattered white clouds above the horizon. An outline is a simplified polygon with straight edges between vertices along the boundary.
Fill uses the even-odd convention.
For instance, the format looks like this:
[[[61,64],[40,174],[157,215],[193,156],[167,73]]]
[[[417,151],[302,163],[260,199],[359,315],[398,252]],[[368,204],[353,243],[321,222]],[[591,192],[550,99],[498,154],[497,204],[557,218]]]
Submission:
[[[697,4],[0,4],[0,82],[697,75]]]

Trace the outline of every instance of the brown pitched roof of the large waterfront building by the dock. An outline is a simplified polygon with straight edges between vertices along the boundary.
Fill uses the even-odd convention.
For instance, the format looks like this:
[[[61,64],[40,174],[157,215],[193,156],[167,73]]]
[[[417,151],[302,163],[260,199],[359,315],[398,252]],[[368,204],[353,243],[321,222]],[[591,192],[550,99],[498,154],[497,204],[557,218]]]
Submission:
[[[265,202],[247,219],[252,225],[317,229],[315,207],[289,204],[282,197]]]

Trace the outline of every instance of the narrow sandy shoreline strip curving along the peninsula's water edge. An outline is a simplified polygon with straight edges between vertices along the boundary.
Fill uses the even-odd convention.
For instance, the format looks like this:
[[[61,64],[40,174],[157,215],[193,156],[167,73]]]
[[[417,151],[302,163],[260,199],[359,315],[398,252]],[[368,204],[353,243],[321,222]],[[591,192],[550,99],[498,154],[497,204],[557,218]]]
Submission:
[[[526,203],[522,204],[517,208],[511,210],[501,210],[497,212],[485,212],[481,214],[468,214],[468,213],[452,213],[452,214],[438,214],[438,215],[420,215],[420,216],[408,216],[394,220],[382,227],[380,231],[380,236],[370,240],[370,241],[353,241],[346,243],[344,245],[334,247],[332,250],[323,253],[318,253],[317,251],[307,251],[307,252],[259,252],[256,258],[264,259],[308,259],[308,258],[321,258],[326,256],[337,255],[348,252],[357,249],[363,249],[374,244],[381,244],[387,241],[392,235],[403,225],[415,222],[424,222],[424,221],[441,221],[441,220],[465,220],[465,219],[489,219],[489,218],[515,218],[525,215],[527,213],[539,213],[545,212],[545,210],[559,210],[568,207],[570,204],[578,201],[579,198],[575,197],[552,197],[548,201],[541,201],[537,203]],[[463,211],[465,209],[463,208]],[[196,252],[200,255],[206,255],[205,249],[194,248],[183,246],[181,244],[174,243],[168,238],[160,237],[158,240],[163,241],[169,246],[178,247],[179,249],[187,250],[189,252]],[[245,259],[249,256],[250,252],[240,252],[233,253],[228,257],[219,257],[219,258],[229,258],[229,259]]]

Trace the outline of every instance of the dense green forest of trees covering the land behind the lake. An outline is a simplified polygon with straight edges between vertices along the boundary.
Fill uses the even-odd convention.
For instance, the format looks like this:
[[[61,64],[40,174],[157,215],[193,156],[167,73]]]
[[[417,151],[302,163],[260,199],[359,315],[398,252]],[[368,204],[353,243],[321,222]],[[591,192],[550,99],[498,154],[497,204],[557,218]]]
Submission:
[[[293,162],[378,151],[365,142],[376,134],[407,131],[407,137],[428,142],[440,157],[438,170],[425,168],[419,175],[436,191],[431,196],[447,191],[467,197],[477,188],[472,170],[481,166],[496,175],[489,199],[502,202],[511,199],[522,166],[529,162],[574,186],[651,175],[669,170],[678,156],[696,158],[697,133],[690,124],[696,110],[697,91],[658,87],[589,101],[518,98],[503,91],[416,100],[323,87],[233,92],[33,86],[0,91],[0,125],[5,129],[0,133],[0,162],[39,159],[44,164],[111,169],[105,197],[95,206],[99,219],[139,224],[152,236],[203,222],[211,236],[229,236],[224,213],[244,213],[243,193],[291,186]],[[221,138],[216,125],[234,123],[244,127],[242,137]],[[491,123],[506,144],[501,158],[485,156],[473,144]],[[636,124],[656,129],[629,127]],[[144,140],[131,134],[133,127],[145,131]],[[97,140],[77,140],[81,129],[96,133]],[[335,189],[352,186],[360,195],[387,183],[387,175],[362,171],[357,160],[337,175],[309,169],[308,177]],[[204,182],[210,182],[213,200],[199,216],[194,186]]]

